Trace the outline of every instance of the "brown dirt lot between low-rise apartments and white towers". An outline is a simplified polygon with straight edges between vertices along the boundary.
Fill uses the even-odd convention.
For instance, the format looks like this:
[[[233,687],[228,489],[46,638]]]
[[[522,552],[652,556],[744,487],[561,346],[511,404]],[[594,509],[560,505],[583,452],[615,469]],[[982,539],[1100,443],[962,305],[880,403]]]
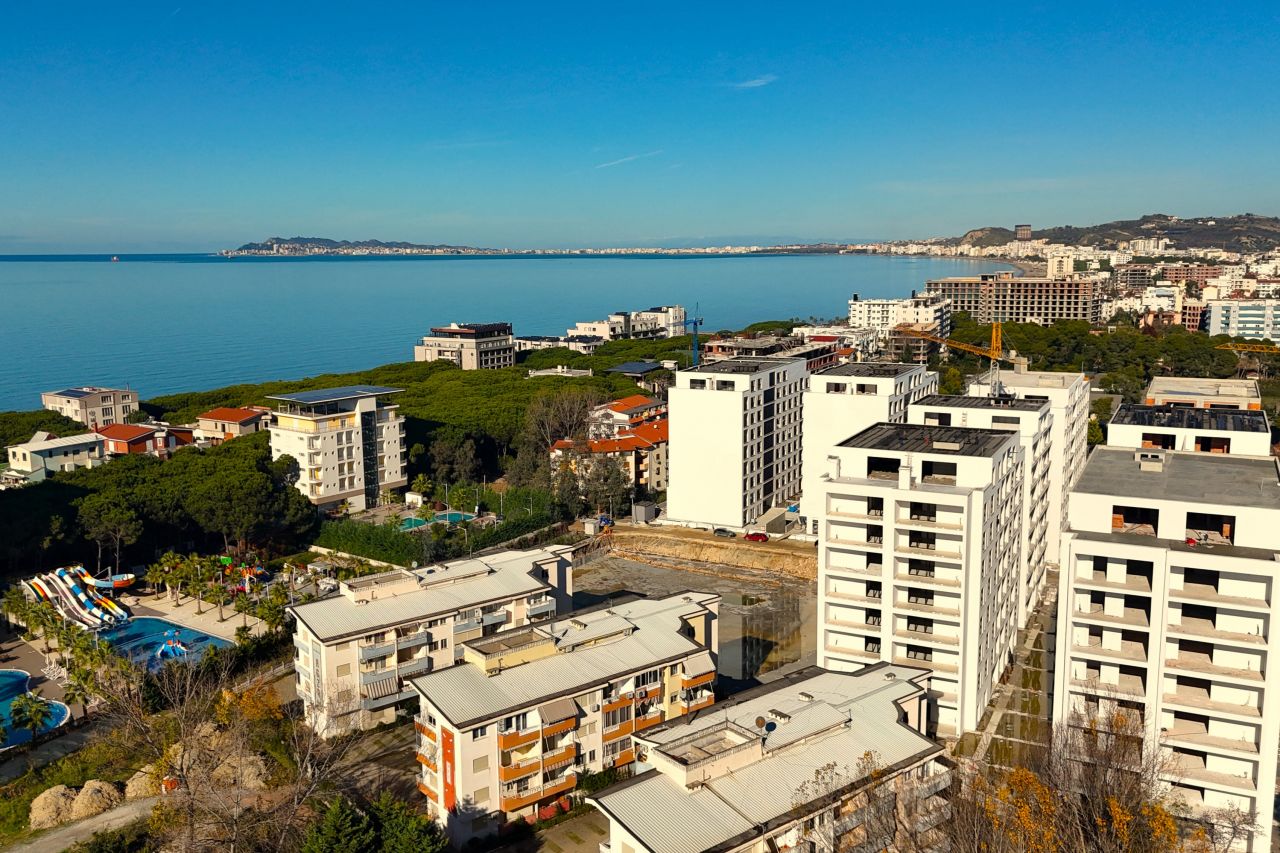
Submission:
[[[611,593],[664,596],[686,589],[719,593],[719,683],[728,692],[804,656],[813,658],[814,581],[777,571],[675,561],[653,565],[655,561],[639,562],[614,555],[596,558],[575,573],[573,606],[598,605]]]

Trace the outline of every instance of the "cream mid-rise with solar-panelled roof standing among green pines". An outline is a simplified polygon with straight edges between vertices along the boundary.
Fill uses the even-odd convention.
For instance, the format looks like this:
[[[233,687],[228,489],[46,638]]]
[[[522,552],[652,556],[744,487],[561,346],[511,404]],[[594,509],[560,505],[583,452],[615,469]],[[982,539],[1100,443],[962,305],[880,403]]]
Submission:
[[[384,492],[408,484],[404,419],[380,397],[399,388],[347,386],[271,394],[271,459],[292,456],[297,488],[323,510],[376,506]]]

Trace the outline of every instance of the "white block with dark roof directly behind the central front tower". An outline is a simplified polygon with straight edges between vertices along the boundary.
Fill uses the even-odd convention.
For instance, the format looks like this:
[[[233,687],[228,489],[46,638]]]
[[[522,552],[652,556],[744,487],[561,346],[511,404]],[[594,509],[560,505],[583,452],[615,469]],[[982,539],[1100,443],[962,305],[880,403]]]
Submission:
[[[1053,452],[1053,415],[1043,400],[1014,397],[950,397],[936,394],[916,401],[908,418],[927,426],[977,426],[1005,429],[1018,434],[1023,448],[1021,540],[1018,573],[1018,628],[1027,626],[1036,602],[1044,590],[1047,566],[1057,562],[1057,553],[1048,552],[1051,467],[1062,464]],[[1062,473],[1057,473],[1061,479]]]

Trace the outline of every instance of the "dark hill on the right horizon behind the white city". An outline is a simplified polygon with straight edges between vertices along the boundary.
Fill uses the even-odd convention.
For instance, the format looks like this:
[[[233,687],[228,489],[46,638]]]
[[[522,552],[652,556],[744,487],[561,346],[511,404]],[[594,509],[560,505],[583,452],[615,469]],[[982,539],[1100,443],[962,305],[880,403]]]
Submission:
[[[1142,237],[1167,237],[1178,248],[1225,248],[1236,252],[1267,251],[1280,246],[1280,218],[1242,214],[1238,216],[1181,218],[1147,214],[1101,225],[1057,225],[1033,231],[1032,237],[1052,243],[1115,248]],[[959,238],[961,246],[1000,246],[1014,238],[1009,228],[975,228]]]

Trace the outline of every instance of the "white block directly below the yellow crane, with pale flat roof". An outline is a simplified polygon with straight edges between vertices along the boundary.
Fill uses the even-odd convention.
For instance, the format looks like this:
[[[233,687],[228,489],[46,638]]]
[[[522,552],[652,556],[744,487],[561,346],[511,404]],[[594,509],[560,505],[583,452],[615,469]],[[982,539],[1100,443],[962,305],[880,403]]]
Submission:
[[[1089,379],[1083,373],[1038,370],[987,371],[969,384],[970,397],[1002,396],[1048,402],[1053,416],[1050,447],[1048,540],[1046,553],[1057,558],[1066,498],[1084,470],[1089,452]]]

